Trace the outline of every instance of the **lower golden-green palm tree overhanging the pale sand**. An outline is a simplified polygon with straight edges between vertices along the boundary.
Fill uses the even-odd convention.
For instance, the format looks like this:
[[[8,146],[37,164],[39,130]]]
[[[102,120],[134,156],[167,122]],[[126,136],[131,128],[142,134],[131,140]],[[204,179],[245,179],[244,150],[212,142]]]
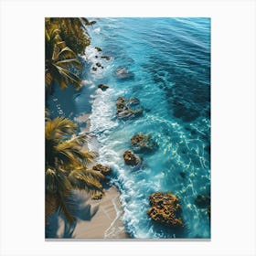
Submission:
[[[83,151],[85,135],[71,136],[76,124],[58,117],[46,123],[46,216],[57,209],[72,223],[74,189],[83,189],[90,194],[102,192],[101,172],[87,168],[95,153]],[[71,138],[69,138],[71,136]]]

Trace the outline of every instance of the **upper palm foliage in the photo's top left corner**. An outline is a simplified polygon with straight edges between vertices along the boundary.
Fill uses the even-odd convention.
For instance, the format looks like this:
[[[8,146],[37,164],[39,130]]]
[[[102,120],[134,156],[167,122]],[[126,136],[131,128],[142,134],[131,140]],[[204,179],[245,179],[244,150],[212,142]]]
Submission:
[[[48,92],[54,83],[58,83],[61,89],[69,84],[80,89],[79,71],[82,66],[78,55],[84,54],[91,42],[84,28],[86,24],[87,19],[84,18],[46,18],[45,75]]]

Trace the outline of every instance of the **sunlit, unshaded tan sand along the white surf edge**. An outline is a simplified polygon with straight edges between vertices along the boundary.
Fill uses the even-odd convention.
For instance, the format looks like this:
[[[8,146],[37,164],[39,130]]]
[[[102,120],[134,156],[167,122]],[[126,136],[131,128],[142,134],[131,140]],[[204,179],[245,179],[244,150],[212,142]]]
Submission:
[[[75,122],[86,123],[80,126],[80,132],[89,133],[91,127],[91,112],[83,113],[75,118]],[[89,138],[90,142],[91,138]],[[90,150],[88,144],[84,144],[82,150]],[[89,168],[98,164],[93,161]],[[92,210],[93,216],[90,220],[77,221],[73,231],[73,238],[78,239],[127,239],[131,238],[123,225],[123,207],[120,201],[120,191],[115,186],[103,189],[104,196],[100,200],[92,200],[84,191],[79,191],[77,197],[83,204],[87,204]],[[95,212],[94,212],[95,211]],[[89,213],[90,214],[90,213]]]

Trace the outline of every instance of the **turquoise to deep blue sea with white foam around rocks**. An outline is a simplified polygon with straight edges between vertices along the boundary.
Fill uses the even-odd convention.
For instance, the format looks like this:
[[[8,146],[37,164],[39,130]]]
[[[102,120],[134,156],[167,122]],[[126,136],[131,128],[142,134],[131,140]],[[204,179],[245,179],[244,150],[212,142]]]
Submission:
[[[101,164],[112,166],[112,182],[122,192],[123,221],[134,238],[210,238],[207,208],[195,204],[197,195],[210,194],[210,19],[100,18],[89,34],[91,46],[82,57],[86,86],[69,103],[68,97],[52,99],[50,108],[70,118],[92,111],[97,144],[90,147],[99,150]],[[91,70],[97,62],[103,69]],[[131,76],[118,78],[114,71],[120,67]],[[100,83],[110,89],[97,89]],[[119,96],[140,99],[143,115],[117,119]],[[150,133],[158,148],[141,155],[144,164],[134,171],[124,165],[123,152],[138,132]],[[155,191],[180,198],[184,232],[147,217],[148,197]]]

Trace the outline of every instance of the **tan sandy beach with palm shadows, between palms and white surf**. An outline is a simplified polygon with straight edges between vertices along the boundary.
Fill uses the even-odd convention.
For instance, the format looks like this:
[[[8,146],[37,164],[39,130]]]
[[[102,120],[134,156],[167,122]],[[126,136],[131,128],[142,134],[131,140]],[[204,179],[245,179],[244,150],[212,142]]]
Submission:
[[[90,133],[90,113],[76,118],[81,125],[80,132]],[[90,136],[89,136],[90,140]],[[84,144],[83,150],[89,150]],[[88,167],[92,168],[96,162]],[[108,185],[107,185],[108,186]],[[129,234],[123,225],[123,208],[119,199],[120,192],[114,186],[104,188],[104,196],[100,200],[92,200],[86,191],[73,191],[74,216],[76,223],[69,227],[57,213],[50,217],[49,225],[54,226],[49,237],[69,239],[127,239]]]

